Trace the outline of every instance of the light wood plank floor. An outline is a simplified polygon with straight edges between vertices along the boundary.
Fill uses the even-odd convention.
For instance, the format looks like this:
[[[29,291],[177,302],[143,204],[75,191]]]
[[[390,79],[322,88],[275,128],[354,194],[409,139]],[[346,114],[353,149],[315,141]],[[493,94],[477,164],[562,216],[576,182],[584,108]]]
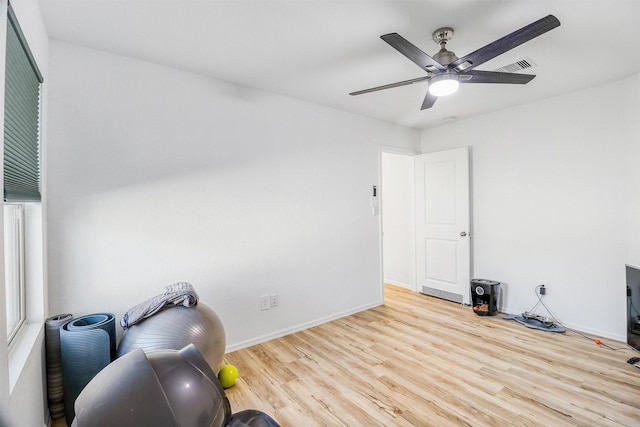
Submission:
[[[387,286],[384,306],[227,354],[227,396],[283,427],[640,426],[633,355]]]

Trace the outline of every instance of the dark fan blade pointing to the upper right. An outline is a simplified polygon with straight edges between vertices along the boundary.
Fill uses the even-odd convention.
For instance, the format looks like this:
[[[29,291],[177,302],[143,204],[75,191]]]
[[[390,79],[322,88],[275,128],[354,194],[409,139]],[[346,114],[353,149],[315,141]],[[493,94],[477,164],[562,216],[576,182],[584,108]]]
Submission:
[[[490,59],[513,49],[514,47],[520,46],[522,43],[526,43],[547,31],[553,30],[558,26],[560,26],[558,18],[553,15],[545,16],[542,19],[522,27],[511,34],[452,62],[449,64],[449,69],[456,69],[458,71],[471,70],[478,65],[484,64]]]

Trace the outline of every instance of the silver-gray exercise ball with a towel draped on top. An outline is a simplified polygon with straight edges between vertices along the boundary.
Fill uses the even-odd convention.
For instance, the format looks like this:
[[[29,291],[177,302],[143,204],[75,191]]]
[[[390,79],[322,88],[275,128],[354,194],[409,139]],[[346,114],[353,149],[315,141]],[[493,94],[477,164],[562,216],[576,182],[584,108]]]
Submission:
[[[180,350],[194,344],[214,373],[222,368],[226,339],[218,315],[203,303],[175,306],[129,327],[118,346],[118,357],[142,349]]]

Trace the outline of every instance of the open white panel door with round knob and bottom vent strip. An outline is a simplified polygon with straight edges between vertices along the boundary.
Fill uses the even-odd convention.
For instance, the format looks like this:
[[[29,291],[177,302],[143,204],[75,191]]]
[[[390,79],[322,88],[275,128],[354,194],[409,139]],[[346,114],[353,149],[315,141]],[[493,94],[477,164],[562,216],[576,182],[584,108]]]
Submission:
[[[415,158],[418,291],[471,303],[469,149]]]

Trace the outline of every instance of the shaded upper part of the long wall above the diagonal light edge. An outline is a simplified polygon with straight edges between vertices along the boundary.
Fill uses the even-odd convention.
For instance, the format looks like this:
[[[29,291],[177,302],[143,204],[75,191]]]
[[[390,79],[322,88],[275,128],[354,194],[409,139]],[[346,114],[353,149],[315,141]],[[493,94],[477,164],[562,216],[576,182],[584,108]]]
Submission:
[[[53,199],[348,145],[331,109],[66,43],[51,58]]]

